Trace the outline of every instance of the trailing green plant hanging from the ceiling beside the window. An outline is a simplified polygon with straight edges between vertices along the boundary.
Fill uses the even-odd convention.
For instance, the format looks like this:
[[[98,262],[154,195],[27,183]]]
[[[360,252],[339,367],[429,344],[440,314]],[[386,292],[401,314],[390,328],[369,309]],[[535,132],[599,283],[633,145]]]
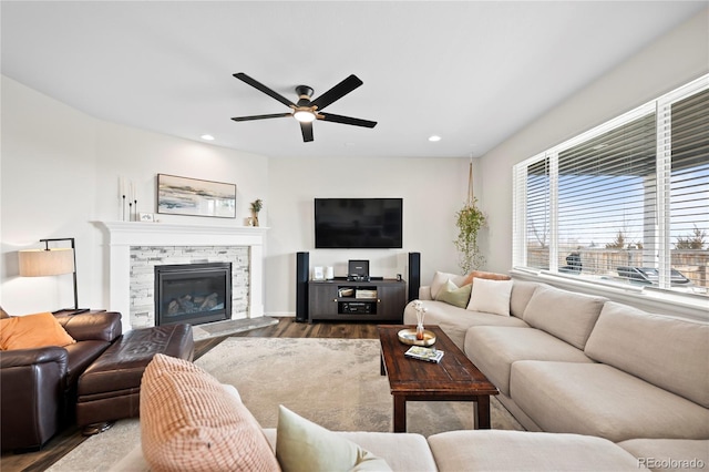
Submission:
[[[460,253],[459,266],[463,274],[469,274],[485,264],[485,257],[480,253],[477,246],[477,234],[485,226],[486,218],[476,203],[477,198],[473,196],[473,162],[471,158],[467,175],[467,201],[463,208],[455,213],[458,238],[453,242]]]

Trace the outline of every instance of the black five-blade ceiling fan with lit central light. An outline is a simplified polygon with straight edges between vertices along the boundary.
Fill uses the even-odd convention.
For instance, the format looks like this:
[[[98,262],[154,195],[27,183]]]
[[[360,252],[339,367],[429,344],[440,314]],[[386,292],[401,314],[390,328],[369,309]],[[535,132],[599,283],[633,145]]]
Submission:
[[[251,79],[244,72],[236,73],[234,74],[234,76],[251,85],[254,89],[260,90],[268,96],[278,100],[280,103],[291,109],[291,111],[287,113],[233,117],[232,120],[234,121],[251,121],[292,116],[300,123],[302,141],[306,143],[312,141],[312,122],[316,120],[330,121],[332,123],[351,124],[354,126],[363,127],[374,127],[377,125],[376,121],[360,120],[350,116],[341,116],[332,113],[320,112],[320,110],[325,109],[332,102],[340,100],[342,96],[347,95],[363,83],[354,74],[348,76],[342,82],[338,83],[332,89],[328,90],[315,100],[310,100],[310,98],[312,96],[311,88],[309,88],[308,85],[298,85],[296,86],[296,93],[298,94],[297,103],[292,103],[290,100],[273,91],[263,83]]]

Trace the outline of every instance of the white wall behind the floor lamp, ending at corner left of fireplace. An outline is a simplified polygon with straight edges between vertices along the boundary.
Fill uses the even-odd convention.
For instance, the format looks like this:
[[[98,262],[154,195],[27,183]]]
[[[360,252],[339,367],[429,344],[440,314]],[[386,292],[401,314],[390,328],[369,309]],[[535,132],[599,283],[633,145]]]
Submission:
[[[76,238],[80,300],[91,300],[94,147],[94,120],[2,78],[2,302],[10,314],[73,305],[71,276],[17,276],[17,250],[41,247],[40,238]]]

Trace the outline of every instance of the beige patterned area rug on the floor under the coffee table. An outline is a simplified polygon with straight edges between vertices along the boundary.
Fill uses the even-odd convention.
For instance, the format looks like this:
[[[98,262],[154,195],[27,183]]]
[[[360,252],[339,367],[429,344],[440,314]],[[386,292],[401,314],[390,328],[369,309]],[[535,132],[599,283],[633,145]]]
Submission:
[[[336,431],[392,430],[392,397],[379,374],[379,340],[227,338],[195,362],[235,386],[264,428],[276,428],[278,404]],[[473,428],[473,403],[410,402],[408,430],[425,437]],[[492,428],[522,430],[491,398]],[[99,471],[140,444],[140,422],[122,420],[89,438],[49,470]]]

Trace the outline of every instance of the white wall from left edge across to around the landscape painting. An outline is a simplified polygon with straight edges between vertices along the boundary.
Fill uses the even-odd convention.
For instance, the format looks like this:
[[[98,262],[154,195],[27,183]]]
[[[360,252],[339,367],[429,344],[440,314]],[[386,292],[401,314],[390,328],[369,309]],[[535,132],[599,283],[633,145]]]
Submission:
[[[71,276],[23,278],[17,250],[40,238],[76,238],[79,301],[111,308],[105,235],[121,218],[119,176],[136,185],[138,209],[155,212],[156,174],[237,185],[237,218],[156,215],[161,220],[244,224],[248,203],[268,198],[268,160],[106,123],[2,78],[2,306],[10,314],[73,305]],[[264,215],[267,215],[267,209]]]

